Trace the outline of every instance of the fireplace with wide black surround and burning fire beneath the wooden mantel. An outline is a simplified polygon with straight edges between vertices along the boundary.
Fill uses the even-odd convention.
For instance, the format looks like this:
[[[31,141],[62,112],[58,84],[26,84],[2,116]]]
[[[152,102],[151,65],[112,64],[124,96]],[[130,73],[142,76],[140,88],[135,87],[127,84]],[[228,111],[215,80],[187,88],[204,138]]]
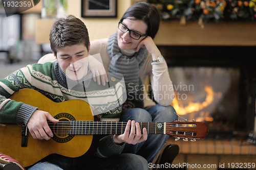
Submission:
[[[179,119],[204,121],[207,138],[254,130],[255,46],[158,46],[167,64]]]

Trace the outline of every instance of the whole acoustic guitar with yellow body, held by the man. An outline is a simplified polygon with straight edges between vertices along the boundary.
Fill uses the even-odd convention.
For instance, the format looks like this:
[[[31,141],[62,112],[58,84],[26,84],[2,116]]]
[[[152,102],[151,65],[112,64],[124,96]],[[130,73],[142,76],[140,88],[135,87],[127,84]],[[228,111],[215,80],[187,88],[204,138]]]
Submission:
[[[99,135],[122,134],[125,122],[100,122],[93,116],[90,105],[82,100],[55,103],[33,89],[22,89],[10,99],[38,107],[59,119],[48,122],[54,136],[50,140],[33,139],[26,126],[0,124],[0,152],[29,166],[50,154],[80,157],[92,154]],[[184,140],[203,139],[208,133],[204,122],[140,123],[148,134],[168,134]]]

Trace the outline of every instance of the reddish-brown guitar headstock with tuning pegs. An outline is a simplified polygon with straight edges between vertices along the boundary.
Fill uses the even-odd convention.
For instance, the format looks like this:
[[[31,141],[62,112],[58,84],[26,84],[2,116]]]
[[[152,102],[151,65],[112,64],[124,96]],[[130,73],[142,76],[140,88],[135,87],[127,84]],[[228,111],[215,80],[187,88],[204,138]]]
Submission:
[[[187,141],[188,138],[191,138],[191,141],[196,141],[196,139],[204,139],[208,134],[209,129],[204,122],[181,122],[177,120],[176,122],[166,123],[166,134],[174,136],[179,140],[183,138],[184,141]]]

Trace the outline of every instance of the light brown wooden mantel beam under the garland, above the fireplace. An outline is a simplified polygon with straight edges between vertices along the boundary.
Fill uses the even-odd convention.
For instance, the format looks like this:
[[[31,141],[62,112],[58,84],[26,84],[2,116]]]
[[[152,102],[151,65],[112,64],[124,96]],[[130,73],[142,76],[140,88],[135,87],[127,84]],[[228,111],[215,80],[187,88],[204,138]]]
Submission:
[[[204,23],[202,29],[197,21],[161,21],[154,39],[157,45],[256,45],[256,22],[214,21]]]

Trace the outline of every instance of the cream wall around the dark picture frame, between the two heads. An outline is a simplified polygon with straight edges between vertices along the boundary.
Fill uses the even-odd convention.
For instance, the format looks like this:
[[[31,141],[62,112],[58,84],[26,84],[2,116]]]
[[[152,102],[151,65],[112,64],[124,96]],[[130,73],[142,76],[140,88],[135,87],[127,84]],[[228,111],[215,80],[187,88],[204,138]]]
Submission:
[[[118,0],[117,18],[82,18],[81,0],[68,0],[68,14],[80,18],[86,24],[92,41],[99,38],[108,38],[116,32],[120,18],[132,3],[133,0]]]

